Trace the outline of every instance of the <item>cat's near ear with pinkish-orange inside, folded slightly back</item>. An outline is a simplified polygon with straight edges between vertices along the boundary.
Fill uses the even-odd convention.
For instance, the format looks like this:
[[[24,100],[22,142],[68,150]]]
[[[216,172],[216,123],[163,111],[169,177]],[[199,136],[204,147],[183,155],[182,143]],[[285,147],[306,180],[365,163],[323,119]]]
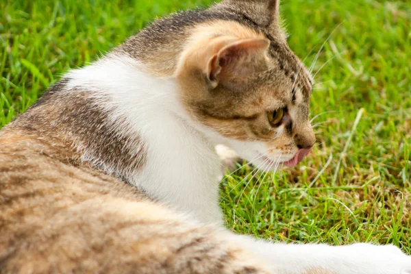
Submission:
[[[208,60],[207,77],[210,88],[220,82],[247,77],[266,65],[266,49],[270,41],[251,38],[227,43]]]

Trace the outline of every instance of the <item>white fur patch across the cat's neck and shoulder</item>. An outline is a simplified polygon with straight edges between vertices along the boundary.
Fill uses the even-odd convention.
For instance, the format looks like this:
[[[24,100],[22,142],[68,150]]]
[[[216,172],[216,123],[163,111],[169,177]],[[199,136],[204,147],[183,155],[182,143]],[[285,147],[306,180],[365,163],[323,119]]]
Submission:
[[[150,76],[136,60],[110,55],[66,77],[69,90],[90,92],[105,110],[105,123],[112,123],[109,130],[125,140],[122,145],[129,162],[140,159],[131,166],[110,166],[105,164],[110,155],[83,147],[84,161],[123,177],[180,212],[208,223],[221,221],[219,158],[180,104],[173,78]]]

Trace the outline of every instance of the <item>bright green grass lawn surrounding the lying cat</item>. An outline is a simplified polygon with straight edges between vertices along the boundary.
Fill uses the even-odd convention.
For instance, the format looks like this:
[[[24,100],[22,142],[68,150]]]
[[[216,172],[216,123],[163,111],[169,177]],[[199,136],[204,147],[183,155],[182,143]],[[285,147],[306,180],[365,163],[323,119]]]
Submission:
[[[0,127],[69,68],[199,3],[210,1],[1,1]],[[391,242],[411,253],[411,2],[287,0],[282,16],[307,66],[332,34],[314,66],[318,145],[296,169],[228,175],[227,225],[286,242]]]

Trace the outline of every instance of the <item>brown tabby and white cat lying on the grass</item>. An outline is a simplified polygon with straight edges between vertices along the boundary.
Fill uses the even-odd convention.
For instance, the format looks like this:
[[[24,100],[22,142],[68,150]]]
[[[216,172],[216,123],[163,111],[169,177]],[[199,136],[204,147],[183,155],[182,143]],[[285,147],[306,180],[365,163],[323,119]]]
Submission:
[[[279,25],[278,0],[172,14],[6,125],[0,273],[411,273],[392,245],[224,227],[215,145],[269,170],[315,142],[312,77]]]

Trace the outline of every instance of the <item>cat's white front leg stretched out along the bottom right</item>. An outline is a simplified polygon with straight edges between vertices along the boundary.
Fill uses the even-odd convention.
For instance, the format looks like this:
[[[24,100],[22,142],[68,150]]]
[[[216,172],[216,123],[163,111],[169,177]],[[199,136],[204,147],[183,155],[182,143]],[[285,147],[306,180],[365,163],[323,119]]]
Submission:
[[[393,245],[292,245],[239,237],[273,273],[411,274],[411,256]]]

